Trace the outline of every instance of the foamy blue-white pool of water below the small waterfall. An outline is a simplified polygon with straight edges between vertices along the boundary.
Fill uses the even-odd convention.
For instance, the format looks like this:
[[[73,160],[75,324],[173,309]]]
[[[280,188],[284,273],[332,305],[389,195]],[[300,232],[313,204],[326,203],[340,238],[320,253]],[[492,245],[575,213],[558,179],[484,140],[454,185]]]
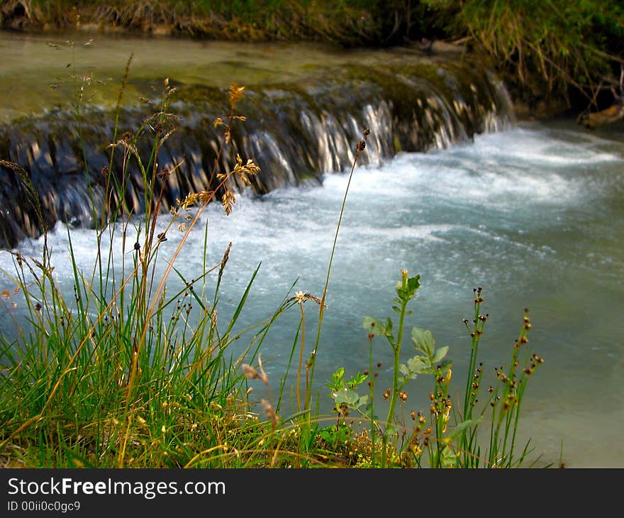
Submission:
[[[520,421],[521,438],[530,438],[534,448],[530,458],[542,454],[538,465],[557,465],[562,452],[569,467],[622,467],[624,128],[589,133],[569,121],[521,122],[444,144],[392,157],[377,155],[371,145],[365,153],[374,160],[355,170],[317,351],[321,404],[330,404],[323,384],[335,368],[344,365],[347,375],[367,368],[362,319],[394,315],[394,285],[405,268],[420,274],[422,285],[408,325],[430,329],[438,346],[450,346],[457,390],[469,358],[462,319],[472,319],[473,288],[483,287],[489,313],[480,346],[484,385],[494,382],[496,365],[508,363],[523,308],[529,308],[530,345],[545,359],[530,379]],[[294,290],[321,296],[347,178],[342,170],[323,175],[322,184],[243,196],[228,217],[208,207],[201,219],[208,226],[208,264],[218,263],[233,243],[221,289],[223,318],[259,263],[243,324],[272,314],[295,281]],[[79,263],[91,268],[94,232],[70,228],[69,234]],[[170,234],[171,249],[177,239]],[[67,227],[58,223],[49,241],[55,274],[71,287]],[[201,273],[203,246],[199,230],[179,263],[187,277]],[[41,239],[18,246],[34,257],[41,247]],[[12,264],[0,251],[0,268]],[[6,277],[0,282],[9,283]],[[312,315],[313,302],[306,304]],[[9,334],[19,309],[6,309],[0,329]],[[260,351],[276,385],[297,317],[294,311],[279,319]],[[313,322],[309,344],[310,329],[316,331]],[[390,380],[387,343],[375,343],[374,358],[382,363],[378,386],[384,386]],[[430,387],[425,376],[413,381],[406,408],[427,408]]]

